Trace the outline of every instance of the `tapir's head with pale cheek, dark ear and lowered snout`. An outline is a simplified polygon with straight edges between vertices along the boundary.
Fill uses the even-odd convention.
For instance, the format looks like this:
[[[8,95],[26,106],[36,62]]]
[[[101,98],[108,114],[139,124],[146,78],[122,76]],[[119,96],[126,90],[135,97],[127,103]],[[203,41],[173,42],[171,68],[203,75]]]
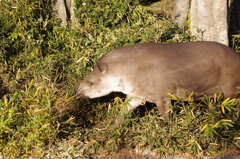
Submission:
[[[77,87],[76,98],[97,98],[115,91],[116,78],[106,63],[97,63],[93,71]]]

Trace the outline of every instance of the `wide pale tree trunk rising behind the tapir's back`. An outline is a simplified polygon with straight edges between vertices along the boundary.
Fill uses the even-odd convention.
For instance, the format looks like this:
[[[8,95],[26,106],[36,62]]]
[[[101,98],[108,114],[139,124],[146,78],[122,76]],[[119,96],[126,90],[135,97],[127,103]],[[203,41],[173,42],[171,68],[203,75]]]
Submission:
[[[217,41],[228,45],[228,2],[192,0],[191,33],[196,40]]]

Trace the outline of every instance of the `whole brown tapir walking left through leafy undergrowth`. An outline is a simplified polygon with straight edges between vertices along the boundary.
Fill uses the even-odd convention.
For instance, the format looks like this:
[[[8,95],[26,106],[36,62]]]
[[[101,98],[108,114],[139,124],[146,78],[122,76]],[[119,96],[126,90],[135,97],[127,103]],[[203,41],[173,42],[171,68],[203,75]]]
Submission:
[[[224,98],[237,98],[240,86],[240,55],[217,42],[174,44],[141,43],[114,49],[103,55],[93,71],[80,82],[77,98],[97,98],[122,92],[131,98],[128,111],[142,101],[155,103],[168,115],[168,93],[211,96],[220,89]],[[123,117],[116,119],[120,124]]]

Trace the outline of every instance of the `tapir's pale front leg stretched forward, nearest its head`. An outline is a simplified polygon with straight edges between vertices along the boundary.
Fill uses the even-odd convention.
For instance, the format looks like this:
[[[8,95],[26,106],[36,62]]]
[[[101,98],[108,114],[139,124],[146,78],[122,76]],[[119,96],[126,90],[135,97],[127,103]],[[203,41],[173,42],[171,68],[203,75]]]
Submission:
[[[124,101],[124,103],[127,104],[126,105],[127,107],[124,107],[125,105],[123,105],[123,107],[121,108],[121,115],[114,121],[113,125],[120,125],[124,119],[124,115],[129,113],[129,111],[137,108],[139,105],[141,105],[142,101],[143,101],[142,98],[131,97],[127,95]]]

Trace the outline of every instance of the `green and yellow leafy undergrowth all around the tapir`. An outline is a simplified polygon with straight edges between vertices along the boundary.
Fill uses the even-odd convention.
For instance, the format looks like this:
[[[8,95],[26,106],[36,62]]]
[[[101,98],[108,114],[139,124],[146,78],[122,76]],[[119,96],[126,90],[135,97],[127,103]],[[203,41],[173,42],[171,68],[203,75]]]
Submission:
[[[191,41],[188,31],[137,0],[78,1],[81,27],[64,29],[51,18],[48,3],[0,2],[1,157],[97,158],[146,148],[159,155],[215,155],[239,148],[237,101],[223,100],[221,94],[198,102],[191,95],[169,95],[175,102],[167,125],[156,107],[143,106],[121,126],[111,123],[126,104],[123,95],[77,101],[72,97],[102,53],[148,41]],[[237,38],[232,41],[239,50]]]

